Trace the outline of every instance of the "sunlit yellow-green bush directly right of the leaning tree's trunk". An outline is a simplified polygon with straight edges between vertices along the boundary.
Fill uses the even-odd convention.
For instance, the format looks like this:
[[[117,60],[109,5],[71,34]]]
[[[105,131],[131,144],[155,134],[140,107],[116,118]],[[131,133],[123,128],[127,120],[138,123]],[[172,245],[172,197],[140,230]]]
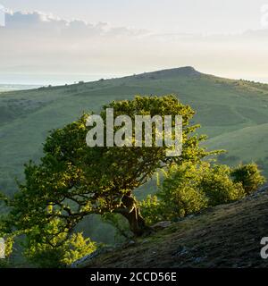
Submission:
[[[195,164],[174,164],[155,196],[140,203],[141,213],[148,224],[173,220],[195,214],[207,206],[207,199],[197,189],[198,170]]]

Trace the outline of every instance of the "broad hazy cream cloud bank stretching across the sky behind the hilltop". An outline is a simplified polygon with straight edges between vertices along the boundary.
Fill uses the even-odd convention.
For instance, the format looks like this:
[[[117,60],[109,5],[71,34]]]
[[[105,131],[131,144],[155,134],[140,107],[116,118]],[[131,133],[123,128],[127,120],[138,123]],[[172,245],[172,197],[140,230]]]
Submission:
[[[0,29],[0,72],[132,73],[192,65],[230,77],[235,77],[230,71],[262,76],[267,41],[267,29],[233,35],[155,34],[47,13],[9,12]]]

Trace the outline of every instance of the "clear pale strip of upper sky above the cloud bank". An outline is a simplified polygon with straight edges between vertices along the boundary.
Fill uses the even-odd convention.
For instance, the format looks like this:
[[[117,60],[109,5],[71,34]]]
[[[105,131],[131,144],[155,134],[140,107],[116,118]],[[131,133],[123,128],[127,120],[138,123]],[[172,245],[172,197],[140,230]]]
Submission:
[[[0,0],[13,11],[42,11],[64,19],[105,21],[155,32],[235,32],[260,29],[268,0]]]

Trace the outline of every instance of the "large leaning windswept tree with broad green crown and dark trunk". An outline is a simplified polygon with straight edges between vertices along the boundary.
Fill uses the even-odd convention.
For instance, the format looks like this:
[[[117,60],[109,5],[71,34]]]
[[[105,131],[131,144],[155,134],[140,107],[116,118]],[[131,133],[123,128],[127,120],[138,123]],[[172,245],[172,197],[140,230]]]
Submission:
[[[9,202],[9,225],[13,230],[29,233],[38,226],[41,236],[42,230],[56,220],[57,233],[49,236],[44,231],[50,243],[56,235],[71,233],[88,214],[116,213],[128,220],[136,236],[142,235],[147,225],[133,190],[160,168],[172,163],[197,163],[208,155],[199,147],[205,137],[194,133],[198,125],[189,123],[195,112],[173,95],[113,101],[103,106],[100,116],[104,122],[106,108],[113,108],[114,116],[127,114],[132,120],[135,115],[182,115],[182,154],[168,157],[169,147],[154,144],[153,147],[88,147],[86,136],[90,127],[86,123],[90,114],[83,114],[77,122],[50,132],[39,164],[25,165],[25,181]],[[172,121],[172,127],[174,124]]]

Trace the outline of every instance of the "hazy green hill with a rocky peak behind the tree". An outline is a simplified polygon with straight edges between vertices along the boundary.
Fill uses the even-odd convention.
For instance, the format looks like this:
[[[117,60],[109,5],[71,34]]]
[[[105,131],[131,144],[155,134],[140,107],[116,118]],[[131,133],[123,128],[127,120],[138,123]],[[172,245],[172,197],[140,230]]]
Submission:
[[[184,67],[0,93],[0,189],[9,194],[17,190],[15,179],[23,179],[24,163],[42,156],[48,130],[76,120],[83,111],[97,112],[113,99],[170,93],[197,111],[194,122],[200,122],[199,132],[209,136],[207,147],[228,150],[220,157],[222,163],[257,161],[268,175],[268,85],[222,79]],[[147,192],[150,188],[152,184]],[[90,236],[103,240],[105,229],[95,224]]]

